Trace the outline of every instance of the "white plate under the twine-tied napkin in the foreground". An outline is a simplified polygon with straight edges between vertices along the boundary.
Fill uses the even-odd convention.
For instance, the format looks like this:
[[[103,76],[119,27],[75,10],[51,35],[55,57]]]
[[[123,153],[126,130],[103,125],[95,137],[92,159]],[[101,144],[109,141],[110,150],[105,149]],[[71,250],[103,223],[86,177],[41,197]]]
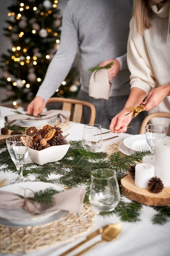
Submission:
[[[55,184],[52,183],[45,183],[41,181],[33,181],[33,182],[26,182],[26,183],[17,183],[8,186],[4,186],[0,189],[0,191],[8,191],[18,195],[24,195],[24,189],[29,188],[34,192],[39,190],[44,190],[47,188],[53,188],[57,191],[62,191],[63,189]],[[33,196],[33,192],[27,189],[26,196],[31,197]],[[24,209],[17,209],[17,210],[7,210],[0,208],[0,218],[13,222],[15,224],[23,224],[25,223],[27,226],[31,224],[39,225],[42,221],[47,219],[48,217],[58,213],[60,210],[56,210],[53,212],[44,212],[39,215],[31,215],[30,213],[26,212]]]

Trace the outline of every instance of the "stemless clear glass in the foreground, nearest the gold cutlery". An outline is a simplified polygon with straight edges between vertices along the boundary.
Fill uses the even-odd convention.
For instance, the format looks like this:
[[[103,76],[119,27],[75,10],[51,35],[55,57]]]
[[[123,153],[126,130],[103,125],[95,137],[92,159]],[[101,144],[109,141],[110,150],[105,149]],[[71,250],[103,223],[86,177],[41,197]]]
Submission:
[[[111,212],[120,201],[116,172],[99,169],[91,173],[89,200],[100,212]]]

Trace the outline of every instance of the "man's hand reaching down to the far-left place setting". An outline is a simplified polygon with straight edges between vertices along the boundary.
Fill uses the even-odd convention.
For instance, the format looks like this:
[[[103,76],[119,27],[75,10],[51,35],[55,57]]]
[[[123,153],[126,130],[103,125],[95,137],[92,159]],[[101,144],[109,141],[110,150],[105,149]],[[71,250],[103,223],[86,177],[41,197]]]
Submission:
[[[45,100],[40,96],[36,96],[33,101],[31,101],[31,103],[28,105],[27,113],[29,115],[33,114],[34,116],[38,116],[40,115],[40,113],[42,113],[45,105]]]

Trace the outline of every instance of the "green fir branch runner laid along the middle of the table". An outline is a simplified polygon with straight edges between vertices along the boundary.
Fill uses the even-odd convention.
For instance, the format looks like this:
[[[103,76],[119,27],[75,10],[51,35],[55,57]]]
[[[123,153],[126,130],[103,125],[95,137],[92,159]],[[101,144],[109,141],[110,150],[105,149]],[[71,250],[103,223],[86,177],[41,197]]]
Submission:
[[[0,145],[2,152],[0,154],[0,172],[7,172],[11,170],[16,172],[14,163],[8,154],[6,145]],[[88,203],[89,187],[91,172],[99,168],[109,168],[116,171],[116,176],[120,185],[121,178],[127,172],[130,165],[140,162],[142,157],[150,154],[149,151],[136,152],[130,156],[125,157],[120,151],[107,155],[105,152],[92,153],[85,151],[81,141],[71,141],[71,146],[62,160],[53,163],[47,163],[43,166],[27,163],[23,168],[23,175],[35,175],[36,181],[59,183],[71,189],[78,185],[85,185],[87,192],[85,202]],[[56,178],[50,178],[49,175],[57,175]],[[142,213],[142,204],[130,201],[127,203],[123,199],[121,192],[121,200],[118,206],[112,212],[100,212],[102,216],[111,216],[116,214],[121,221],[136,222],[140,221]],[[148,206],[149,207],[149,206]],[[170,207],[153,207],[156,214],[153,215],[151,221],[153,224],[164,224],[170,221]]]

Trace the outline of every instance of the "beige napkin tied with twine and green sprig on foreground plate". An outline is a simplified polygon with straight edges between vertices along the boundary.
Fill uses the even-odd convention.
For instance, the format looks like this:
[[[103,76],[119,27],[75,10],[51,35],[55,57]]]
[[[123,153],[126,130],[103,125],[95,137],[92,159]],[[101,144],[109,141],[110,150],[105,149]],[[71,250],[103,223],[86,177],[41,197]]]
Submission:
[[[54,195],[53,206],[48,206],[37,202],[32,203],[27,198],[22,199],[11,192],[0,191],[0,208],[9,210],[24,208],[33,215],[57,209],[79,213],[84,197],[85,187],[74,188]]]

